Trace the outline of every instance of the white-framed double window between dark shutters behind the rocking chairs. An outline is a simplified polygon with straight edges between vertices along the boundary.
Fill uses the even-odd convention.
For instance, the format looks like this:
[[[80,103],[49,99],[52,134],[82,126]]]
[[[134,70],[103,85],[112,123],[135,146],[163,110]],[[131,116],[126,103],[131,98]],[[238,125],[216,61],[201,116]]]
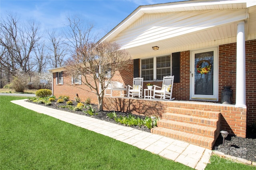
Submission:
[[[141,59],[141,75],[145,81],[162,80],[171,75],[171,56]]]

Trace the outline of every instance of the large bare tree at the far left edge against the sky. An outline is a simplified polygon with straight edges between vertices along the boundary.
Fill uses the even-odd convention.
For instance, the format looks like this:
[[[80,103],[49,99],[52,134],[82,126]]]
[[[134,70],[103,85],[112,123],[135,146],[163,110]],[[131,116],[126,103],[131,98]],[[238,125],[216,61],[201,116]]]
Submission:
[[[1,69],[15,75],[16,70],[30,74],[35,65],[31,59],[32,51],[40,40],[39,26],[34,21],[20,25],[16,16],[8,14],[1,18],[0,45]]]

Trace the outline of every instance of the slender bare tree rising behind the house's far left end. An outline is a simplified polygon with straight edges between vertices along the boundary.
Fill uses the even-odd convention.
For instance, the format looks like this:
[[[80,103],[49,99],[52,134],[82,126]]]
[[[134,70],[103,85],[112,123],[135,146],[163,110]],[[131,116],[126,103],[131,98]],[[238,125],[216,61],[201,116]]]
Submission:
[[[63,38],[56,35],[56,31],[48,33],[48,39],[50,45],[48,49],[50,50],[50,55],[48,57],[52,67],[64,66],[64,58],[67,54],[67,45],[64,43]]]

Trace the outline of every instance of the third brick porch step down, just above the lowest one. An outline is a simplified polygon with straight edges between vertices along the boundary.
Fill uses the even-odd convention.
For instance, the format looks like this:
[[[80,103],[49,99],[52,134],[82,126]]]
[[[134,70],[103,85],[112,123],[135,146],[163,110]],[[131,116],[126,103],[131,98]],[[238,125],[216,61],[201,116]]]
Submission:
[[[170,121],[161,119],[157,122],[157,127],[162,127],[166,129],[172,129],[174,131],[185,132],[193,135],[199,135],[202,137],[207,137],[214,139],[214,136],[218,133],[217,127],[206,127],[196,124],[183,123],[177,121]]]

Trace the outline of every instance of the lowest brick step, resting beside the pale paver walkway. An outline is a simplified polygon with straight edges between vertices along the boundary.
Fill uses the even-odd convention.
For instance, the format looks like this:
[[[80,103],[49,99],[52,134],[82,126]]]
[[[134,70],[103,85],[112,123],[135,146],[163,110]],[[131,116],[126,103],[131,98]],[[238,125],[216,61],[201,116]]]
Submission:
[[[174,131],[172,129],[166,129],[163,127],[154,127],[151,129],[151,133],[163,135],[173,139],[178,139],[207,149],[212,149],[215,143],[215,140],[212,138],[194,135],[191,133],[181,131]]]

